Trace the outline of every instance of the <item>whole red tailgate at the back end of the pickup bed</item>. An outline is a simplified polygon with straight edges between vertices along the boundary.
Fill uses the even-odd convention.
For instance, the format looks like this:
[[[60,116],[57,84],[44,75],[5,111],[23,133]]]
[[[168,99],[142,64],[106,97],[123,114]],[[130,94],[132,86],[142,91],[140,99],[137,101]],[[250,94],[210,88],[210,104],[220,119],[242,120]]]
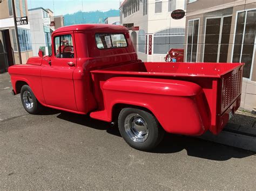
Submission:
[[[221,114],[241,95],[242,68],[243,65],[221,77]]]

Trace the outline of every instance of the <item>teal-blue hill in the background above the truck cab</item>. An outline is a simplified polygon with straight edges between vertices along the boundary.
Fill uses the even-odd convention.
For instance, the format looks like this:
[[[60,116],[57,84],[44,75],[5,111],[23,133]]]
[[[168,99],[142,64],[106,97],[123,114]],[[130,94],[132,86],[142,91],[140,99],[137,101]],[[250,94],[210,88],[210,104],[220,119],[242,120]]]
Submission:
[[[119,16],[119,10],[103,11],[91,11],[82,12],[78,11],[73,14],[64,15],[64,25],[86,24],[86,23],[104,23],[104,19],[107,17]],[[84,19],[83,19],[84,17]]]

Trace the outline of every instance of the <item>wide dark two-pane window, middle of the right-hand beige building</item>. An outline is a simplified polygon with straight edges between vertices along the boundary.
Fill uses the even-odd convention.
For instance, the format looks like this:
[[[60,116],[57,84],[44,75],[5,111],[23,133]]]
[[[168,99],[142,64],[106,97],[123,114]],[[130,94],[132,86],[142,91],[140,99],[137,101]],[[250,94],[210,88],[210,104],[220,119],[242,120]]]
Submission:
[[[227,62],[232,16],[206,18],[204,62]]]

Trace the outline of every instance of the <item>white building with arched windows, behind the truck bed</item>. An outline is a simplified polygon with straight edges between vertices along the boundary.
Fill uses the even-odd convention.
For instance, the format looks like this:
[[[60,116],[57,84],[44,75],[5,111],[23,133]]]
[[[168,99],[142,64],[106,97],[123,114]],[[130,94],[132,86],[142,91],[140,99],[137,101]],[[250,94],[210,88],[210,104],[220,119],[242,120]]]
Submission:
[[[120,23],[129,27],[134,47],[143,61],[164,61],[170,48],[184,48],[186,18],[171,18],[173,10],[186,10],[185,0],[125,0]]]

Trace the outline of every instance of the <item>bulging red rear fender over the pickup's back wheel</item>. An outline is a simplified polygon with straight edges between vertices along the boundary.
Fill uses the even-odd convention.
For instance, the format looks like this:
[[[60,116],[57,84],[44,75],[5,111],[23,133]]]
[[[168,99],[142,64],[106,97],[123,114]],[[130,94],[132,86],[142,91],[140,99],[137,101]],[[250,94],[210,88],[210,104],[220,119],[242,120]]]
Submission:
[[[104,108],[108,121],[113,120],[116,104],[144,107],[157,117],[167,132],[201,135],[210,119],[199,103],[202,88],[192,82],[143,77],[113,77],[103,86]]]

